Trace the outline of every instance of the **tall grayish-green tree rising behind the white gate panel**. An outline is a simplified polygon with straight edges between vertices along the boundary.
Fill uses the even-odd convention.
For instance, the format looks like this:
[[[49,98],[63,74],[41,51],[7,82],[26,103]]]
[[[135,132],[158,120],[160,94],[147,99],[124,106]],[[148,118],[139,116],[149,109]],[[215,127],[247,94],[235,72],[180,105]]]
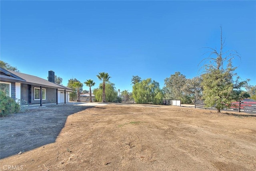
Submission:
[[[182,87],[186,84],[186,80],[186,76],[180,74],[180,72],[175,72],[170,78],[166,78],[163,87],[165,98],[181,100],[181,103],[184,103],[185,101],[183,99],[186,99],[186,97],[184,97],[185,95],[182,91]]]

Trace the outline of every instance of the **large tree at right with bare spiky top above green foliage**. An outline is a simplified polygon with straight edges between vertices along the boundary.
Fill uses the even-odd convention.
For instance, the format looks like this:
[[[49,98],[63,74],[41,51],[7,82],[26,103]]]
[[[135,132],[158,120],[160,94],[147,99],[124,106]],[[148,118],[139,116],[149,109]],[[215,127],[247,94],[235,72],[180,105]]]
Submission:
[[[232,66],[232,60],[235,57],[240,58],[240,56],[235,50],[223,51],[225,41],[222,42],[221,27],[220,30],[220,51],[206,47],[210,51],[204,54],[209,54],[209,56],[201,61],[204,62],[201,67],[201,69],[204,69],[201,75],[204,103],[206,103],[206,107],[215,106],[217,112],[230,107],[232,101],[234,101],[233,90],[240,89],[248,82],[248,80],[239,81],[240,77],[234,73],[237,67]],[[210,63],[207,63],[207,61],[210,61]]]

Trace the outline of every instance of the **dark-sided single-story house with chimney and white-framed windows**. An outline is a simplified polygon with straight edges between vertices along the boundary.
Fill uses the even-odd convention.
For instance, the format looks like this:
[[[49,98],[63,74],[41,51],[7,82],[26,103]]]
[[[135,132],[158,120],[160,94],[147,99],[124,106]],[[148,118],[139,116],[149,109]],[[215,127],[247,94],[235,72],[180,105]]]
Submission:
[[[26,101],[28,105],[69,102],[70,87],[56,84],[54,72],[48,71],[48,80],[6,70],[0,67],[0,89],[16,101]]]

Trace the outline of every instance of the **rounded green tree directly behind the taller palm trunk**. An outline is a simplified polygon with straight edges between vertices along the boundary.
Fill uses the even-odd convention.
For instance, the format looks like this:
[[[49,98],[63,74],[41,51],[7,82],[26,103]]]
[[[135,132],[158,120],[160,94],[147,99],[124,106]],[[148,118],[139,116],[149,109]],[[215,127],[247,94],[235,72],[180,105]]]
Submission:
[[[99,85],[98,88],[93,90],[93,94],[95,95],[95,100],[96,101],[102,101],[102,89],[103,83]],[[111,82],[106,82],[105,83],[105,88],[106,88],[106,101],[107,102],[114,102],[117,99],[118,91],[116,91],[116,87],[114,83]]]

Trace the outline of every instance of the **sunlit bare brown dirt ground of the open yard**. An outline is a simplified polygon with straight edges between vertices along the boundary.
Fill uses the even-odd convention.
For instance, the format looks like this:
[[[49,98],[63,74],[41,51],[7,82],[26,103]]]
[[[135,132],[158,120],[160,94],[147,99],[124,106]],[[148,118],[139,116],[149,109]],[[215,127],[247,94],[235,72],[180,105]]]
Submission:
[[[1,159],[0,170],[254,171],[256,117],[234,114],[161,105],[86,108],[66,118],[54,142]]]

